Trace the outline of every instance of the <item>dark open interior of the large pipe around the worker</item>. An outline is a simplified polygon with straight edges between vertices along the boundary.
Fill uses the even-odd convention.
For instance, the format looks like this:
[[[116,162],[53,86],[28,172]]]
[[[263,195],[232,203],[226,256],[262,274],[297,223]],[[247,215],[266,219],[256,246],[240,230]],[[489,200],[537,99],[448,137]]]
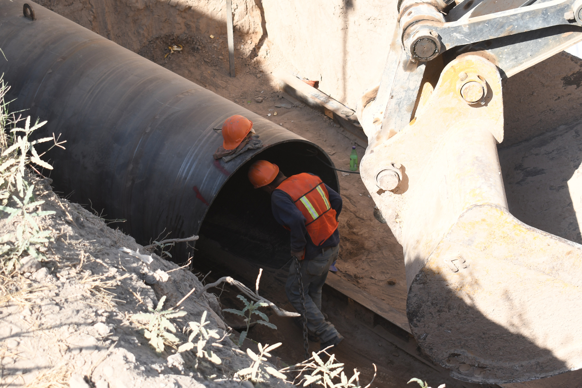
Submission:
[[[196,250],[221,250],[251,264],[281,268],[290,259],[289,232],[276,222],[268,193],[255,189],[247,178],[252,163],[264,159],[275,163],[286,176],[302,172],[318,175],[339,191],[336,172],[326,166],[327,155],[306,141],[288,141],[259,152],[230,177],[212,202],[200,227]],[[194,262],[201,260],[194,252]]]

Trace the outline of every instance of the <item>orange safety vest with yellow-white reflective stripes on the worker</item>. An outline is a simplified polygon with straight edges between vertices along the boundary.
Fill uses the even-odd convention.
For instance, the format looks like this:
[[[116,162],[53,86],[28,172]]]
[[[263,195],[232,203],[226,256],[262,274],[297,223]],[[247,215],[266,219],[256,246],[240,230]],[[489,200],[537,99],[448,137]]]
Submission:
[[[311,241],[317,246],[329,239],[338,229],[336,212],[329,204],[324,183],[315,175],[300,173],[283,180],[277,187],[289,194],[293,204],[305,217],[305,226]],[[290,230],[288,226],[285,229]]]

